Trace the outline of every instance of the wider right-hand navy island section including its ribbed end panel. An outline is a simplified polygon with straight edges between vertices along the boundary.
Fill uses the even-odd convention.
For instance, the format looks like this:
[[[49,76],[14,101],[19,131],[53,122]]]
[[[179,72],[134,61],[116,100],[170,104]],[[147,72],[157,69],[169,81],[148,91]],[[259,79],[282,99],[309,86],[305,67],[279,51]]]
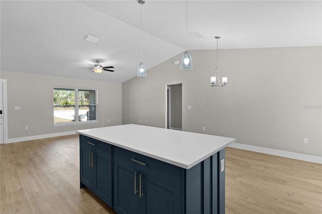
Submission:
[[[219,166],[224,156],[222,149],[184,169],[114,147],[114,209],[119,214],[225,213]]]

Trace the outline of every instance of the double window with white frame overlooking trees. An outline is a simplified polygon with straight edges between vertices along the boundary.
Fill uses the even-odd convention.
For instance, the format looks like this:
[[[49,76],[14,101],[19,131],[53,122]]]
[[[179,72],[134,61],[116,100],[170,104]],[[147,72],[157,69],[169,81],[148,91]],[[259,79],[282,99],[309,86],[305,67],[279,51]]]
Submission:
[[[97,90],[95,89],[55,87],[53,103],[54,125],[97,121]]]

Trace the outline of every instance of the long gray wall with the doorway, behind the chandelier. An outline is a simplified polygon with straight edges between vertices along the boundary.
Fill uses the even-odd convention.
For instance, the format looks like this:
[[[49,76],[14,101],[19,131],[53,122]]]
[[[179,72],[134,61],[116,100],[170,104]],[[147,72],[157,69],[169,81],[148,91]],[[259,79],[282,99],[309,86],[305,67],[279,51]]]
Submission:
[[[192,70],[174,65],[180,54],[149,69],[147,77],[122,83],[123,124],[141,120],[164,128],[165,86],[182,83],[183,131],[322,156],[321,47],[219,50],[218,68],[228,77],[223,88],[210,86],[215,50],[189,52]]]

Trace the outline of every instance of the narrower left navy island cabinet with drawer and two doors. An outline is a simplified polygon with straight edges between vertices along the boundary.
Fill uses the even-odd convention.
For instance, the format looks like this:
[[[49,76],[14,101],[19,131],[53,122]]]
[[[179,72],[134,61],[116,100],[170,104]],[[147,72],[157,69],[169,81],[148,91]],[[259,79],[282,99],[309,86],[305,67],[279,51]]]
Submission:
[[[87,186],[112,206],[112,146],[79,135],[81,188]]]

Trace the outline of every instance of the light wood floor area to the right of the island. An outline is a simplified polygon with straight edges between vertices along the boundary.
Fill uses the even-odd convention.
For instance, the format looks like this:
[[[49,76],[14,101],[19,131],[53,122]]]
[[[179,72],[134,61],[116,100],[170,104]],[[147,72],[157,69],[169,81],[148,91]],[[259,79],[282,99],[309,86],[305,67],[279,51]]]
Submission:
[[[228,147],[226,213],[322,213],[322,165]]]

